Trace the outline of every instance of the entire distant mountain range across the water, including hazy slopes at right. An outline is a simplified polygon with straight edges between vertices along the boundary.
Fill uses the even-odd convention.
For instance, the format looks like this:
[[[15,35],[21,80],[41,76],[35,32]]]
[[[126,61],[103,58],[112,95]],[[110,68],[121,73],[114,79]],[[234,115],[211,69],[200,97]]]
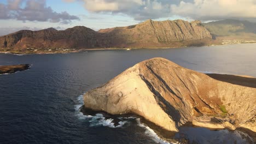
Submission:
[[[246,37],[245,37],[246,35]],[[147,20],[137,25],[94,31],[75,26],[22,30],[0,37],[0,51],[14,53],[67,52],[87,49],[183,47],[222,44],[223,39],[255,40],[256,23],[223,20],[209,23]]]

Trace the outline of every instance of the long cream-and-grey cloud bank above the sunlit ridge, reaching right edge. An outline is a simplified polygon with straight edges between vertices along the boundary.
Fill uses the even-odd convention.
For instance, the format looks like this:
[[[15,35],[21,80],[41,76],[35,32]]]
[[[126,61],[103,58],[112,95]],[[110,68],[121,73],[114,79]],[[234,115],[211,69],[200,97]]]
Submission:
[[[93,13],[121,13],[135,20],[161,17],[219,20],[230,18],[256,19],[255,0],[63,0],[79,1]]]

